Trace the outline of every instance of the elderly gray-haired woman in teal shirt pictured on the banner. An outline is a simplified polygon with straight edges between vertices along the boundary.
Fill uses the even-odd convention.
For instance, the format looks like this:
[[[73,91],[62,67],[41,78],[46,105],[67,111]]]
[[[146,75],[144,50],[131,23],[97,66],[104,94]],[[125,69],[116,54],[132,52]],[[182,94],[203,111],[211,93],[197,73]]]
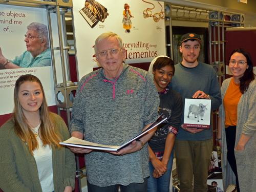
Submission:
[[[27,51],[9,60],[4,57],[0,48],[0,69],[51,66],[47,26],[33,22],[27,29],[24,39]]]

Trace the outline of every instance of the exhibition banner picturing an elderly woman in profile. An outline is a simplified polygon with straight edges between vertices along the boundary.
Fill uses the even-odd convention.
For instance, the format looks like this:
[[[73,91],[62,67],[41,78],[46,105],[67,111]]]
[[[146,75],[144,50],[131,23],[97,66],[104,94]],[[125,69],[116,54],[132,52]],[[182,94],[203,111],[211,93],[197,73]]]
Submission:
[[[25,74],[40,79],[48,105],[55,105],[47,10],[0,5],[0,36],[0,115],[12,113],[15,81]]]

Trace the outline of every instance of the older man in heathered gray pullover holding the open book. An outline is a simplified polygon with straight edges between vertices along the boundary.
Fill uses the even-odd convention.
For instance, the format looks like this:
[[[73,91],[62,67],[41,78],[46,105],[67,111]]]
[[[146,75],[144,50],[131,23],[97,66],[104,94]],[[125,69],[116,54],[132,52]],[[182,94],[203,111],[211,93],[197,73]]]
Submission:
[[[151,74],[126,65],[122,39],[113,32],[95,41],[101,69],[79,82],[72,110],[71,135],[106,145],[121,145],[158,117],[159,96]],[[86,154],[88,191],[146,191],[147,145],[154,131],[118,152],[74,148]]]

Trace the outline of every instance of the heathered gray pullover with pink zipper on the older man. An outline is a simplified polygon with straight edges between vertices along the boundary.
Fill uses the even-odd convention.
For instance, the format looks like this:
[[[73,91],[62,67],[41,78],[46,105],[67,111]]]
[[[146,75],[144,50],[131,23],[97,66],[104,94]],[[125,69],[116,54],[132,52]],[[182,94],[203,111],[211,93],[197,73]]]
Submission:
[[[82,77],[73,105],[71,132],[85,134],[88,141],[121,145],[158,117],[159,96],[152,76],[123,64],[114,81],[102,69]],[[149,176],[148,152],[123,156],[93,151],[86,154],[88,181],[97,186],[142,183]]]

